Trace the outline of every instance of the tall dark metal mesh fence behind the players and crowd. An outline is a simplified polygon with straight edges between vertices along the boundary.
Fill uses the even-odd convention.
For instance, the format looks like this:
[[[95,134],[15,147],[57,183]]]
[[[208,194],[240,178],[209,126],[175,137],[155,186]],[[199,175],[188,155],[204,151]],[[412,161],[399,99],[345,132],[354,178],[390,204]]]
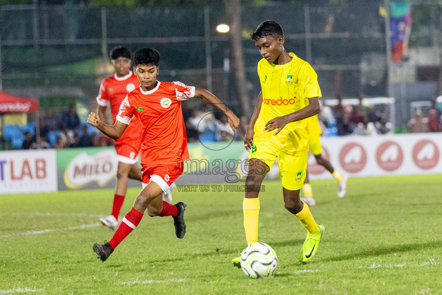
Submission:
[[[325,97],[385,96],[387,82],[383,1],[343,5],[292,3],[242,7],[244,60],[251,97],[258,95],[256,64],[261,58],[248,35],[263,20],[278,21],[285,48],[309,61]],[[91,7],[2,6],[0,8],[3,88],[81,89],[93,101],[109,74],[108,52],[152,46],[161,54],[162,80],[213,88],[235,109],[223,6]],[[106,61],[104,63],[103,61]],[[209,85],[208,85],[209,83]],[[212,85],[210,85],[212,84]],[[72,90],[72,93],[77,93]],[[49,93],[49,92],[48,92]],[[75,94],[72,94],[75,96]]]

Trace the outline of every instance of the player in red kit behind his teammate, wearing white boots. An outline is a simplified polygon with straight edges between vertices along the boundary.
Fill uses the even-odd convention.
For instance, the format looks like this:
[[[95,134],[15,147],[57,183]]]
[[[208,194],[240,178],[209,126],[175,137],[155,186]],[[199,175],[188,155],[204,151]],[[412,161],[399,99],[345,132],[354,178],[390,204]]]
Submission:
[[[132,53],[126,47],[115,47],[111,52],[112,65],[115,74],[103,80],[97,96],[97,114],[103,120],[106,114],[107,105],[110,106],[110,113],[115,124],[118,111],[127,93],[140,86],[137,76],[130,71]],[[117,185],[115,187],[112,213],[106,218],[100,218],[104,226],[116,230],[118,227],[118,215],[127,192],[128,179],[141,180],[141,171],[138,168],[138,154],[141,149],[141,124],[133,120],[126,128],[122,136],[115,140],[117,151]],[[163,199],[171,202],[171,190],[164,193]]]

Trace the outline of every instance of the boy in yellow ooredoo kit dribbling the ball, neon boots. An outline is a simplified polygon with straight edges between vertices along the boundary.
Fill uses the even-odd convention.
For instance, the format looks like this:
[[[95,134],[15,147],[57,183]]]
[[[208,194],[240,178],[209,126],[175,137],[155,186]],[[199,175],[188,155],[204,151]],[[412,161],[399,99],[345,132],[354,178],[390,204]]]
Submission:
[[[309,151],[305,119],[319,112],[321,91],[313,68],[284,49],[278,23],[261,23],[251,39],[263,59],[258,63],[261,93],[244,138],[244,147],[250,152],[243,201],[247,244],[258,241],[259,188],[278,159],[284,207],[307,230],[299,255],[299,260],[305,262],[315,255],[324,232],[324,226],[313,219],[309,206],[299,199]],[[240,257],[232,262],[238,266]]]

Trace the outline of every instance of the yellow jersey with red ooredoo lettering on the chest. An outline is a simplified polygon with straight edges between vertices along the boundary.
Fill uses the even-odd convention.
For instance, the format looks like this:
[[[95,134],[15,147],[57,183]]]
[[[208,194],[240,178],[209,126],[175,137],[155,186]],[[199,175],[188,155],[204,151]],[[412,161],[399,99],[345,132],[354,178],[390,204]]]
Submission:
[[[288,123],[277,135],[276,130],[264,131],[268,121],[288,115],[309,104],[308,98],[321,97],[318,76],[307,61],[293,53],[285,65],[275,65],[264,58],[258,63],[258,76],[263,91],[263,103],[255,123],[255,142],[268,142],[291,155],[309,151],[307,120]]]

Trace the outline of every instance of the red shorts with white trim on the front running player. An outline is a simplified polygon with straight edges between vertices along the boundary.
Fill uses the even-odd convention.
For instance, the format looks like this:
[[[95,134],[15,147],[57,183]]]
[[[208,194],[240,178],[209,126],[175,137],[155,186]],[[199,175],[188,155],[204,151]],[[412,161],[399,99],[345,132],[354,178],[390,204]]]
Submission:
[[[171,165],[145,165],[141,164],[141,173],[143,173],[143,188],[149,184],[150,181],[155,182],[160,186],[163,192],[167,192],[170,185],[183,174],[183,162]]]

